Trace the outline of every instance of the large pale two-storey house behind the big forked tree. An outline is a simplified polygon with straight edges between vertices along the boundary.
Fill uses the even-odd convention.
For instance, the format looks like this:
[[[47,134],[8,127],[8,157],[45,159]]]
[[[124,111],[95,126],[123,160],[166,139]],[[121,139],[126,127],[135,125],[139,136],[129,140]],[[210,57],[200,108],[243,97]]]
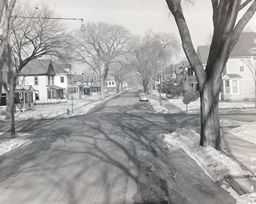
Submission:
[[[198,46],[197,55],[206,67],[210,46]],[[250,100],[255,98],[256,33],[241,33],[238,43],[229,55],[222,75],[221,100]],[[182,67],[187,72],[187,90],[198,92],[196,76],[189,63]],[[183,72],[182,71],[182,72]],[[179,80],[182,78],[178,75]]]

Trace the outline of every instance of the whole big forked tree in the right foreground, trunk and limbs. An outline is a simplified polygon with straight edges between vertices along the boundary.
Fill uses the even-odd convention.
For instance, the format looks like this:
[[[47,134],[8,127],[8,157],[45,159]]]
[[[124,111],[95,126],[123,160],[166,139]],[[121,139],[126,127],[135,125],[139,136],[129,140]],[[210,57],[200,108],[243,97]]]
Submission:
[[[188,1],[188,0],[185,0]],[[189,29],[183,15],[181,0],[166,0],[174,16],[182,40],[183,50],[195,72],[201,97],[201,146],[222,149],[219,129],[219,92],[221,75],[238,38],[255,13],[256,0],[211,0],[214,32],[206,68],[193,47]],[[238,13],[245,9],[238,19]]]

